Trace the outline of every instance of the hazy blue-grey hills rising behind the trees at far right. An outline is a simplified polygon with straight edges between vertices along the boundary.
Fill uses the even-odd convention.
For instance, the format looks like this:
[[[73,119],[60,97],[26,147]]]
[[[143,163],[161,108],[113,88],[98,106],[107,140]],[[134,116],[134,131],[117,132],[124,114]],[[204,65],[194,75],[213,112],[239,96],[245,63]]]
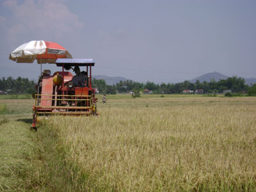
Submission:
[[[203,81],[210,82],[211,79],[214,79],[215,81],[220,81],[220,79],[227,79],[227,78],[228,76],[225,76],[219,72],[212,72],[212,73],[208,73],[208,74],[204,74],[202,76],[196,77],[195,79],[191,79],[189,80],[189,82],[196,83],[196,80],[199,80],[202,83]],[[248,78],[248,79],[243,78],[243,79],[245,80],[245,84],[248,84],[248,85],[256,83],[255,78]]]

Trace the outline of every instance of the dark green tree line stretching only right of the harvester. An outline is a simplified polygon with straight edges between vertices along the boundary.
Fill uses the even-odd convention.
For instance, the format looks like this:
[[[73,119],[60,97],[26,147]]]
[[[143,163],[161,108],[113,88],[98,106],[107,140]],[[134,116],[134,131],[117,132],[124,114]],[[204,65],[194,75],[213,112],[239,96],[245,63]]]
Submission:
[[[116,94],[134,92],[137,90],[152,90],[154,93],[160,94],[173,94],[173,93],[182,93],[183,90],[196,90],[202,89],[204,93],[223,93],[224,90],[231,90],[234,93],[243,93],[248,92],[250,86],[245,84],[245,80],[241,77],[228,77],[227,79],[221,79],[220,81],[215,81],[211,79],[210,82],[196,81],[196,83],[191,83],[189,81],[184,81],[182,83],[161,83],[155,84],[153,82],[147,83],[138,83],[131,80],[120,81],[114,85],[106,84],[106,81],[103,79],[93,79],[92,86],[98,88],[99,93],[106,94]]]

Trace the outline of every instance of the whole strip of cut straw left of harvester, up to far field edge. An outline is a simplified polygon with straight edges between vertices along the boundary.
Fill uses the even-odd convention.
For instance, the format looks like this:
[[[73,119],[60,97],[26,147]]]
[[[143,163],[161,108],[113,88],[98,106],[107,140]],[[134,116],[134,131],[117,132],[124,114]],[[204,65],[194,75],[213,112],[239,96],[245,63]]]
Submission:
[[[30,125],[31,104],[0,100],[0,191],[30,191],[38,186],[38,147]]]

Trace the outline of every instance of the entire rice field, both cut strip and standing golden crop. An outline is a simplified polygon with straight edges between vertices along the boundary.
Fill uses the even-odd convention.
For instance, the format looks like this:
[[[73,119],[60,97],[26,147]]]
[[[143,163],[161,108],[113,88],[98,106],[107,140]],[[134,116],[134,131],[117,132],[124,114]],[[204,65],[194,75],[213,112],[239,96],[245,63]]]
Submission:
[[[99,117],[0,99],[0,191],[256,191],[256,97],[107,95]]]

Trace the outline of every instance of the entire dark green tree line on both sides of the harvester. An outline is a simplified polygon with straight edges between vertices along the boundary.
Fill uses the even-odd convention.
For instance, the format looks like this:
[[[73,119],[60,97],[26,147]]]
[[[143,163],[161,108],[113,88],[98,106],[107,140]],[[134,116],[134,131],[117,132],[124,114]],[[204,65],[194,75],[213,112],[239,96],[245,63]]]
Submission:
[[[8,93],[34,93],[36,92],[35,81],[29,80],[28,78],[17,77],[2,77],[0,79],[0,90]],[[196,83],[191,83],[189,81],[184,81],[182,83],[161,83],[155,84],[148,81],[147,83],[138,83],[135,81],[127,80],[120,81],[119,83],[108,85],[103,79],[92,79],[93,88],[97,88],[99,93],[106,94],[116,94],[127,93],[127,92],[138,92],[143,90],[152,90],[154,93],[159,94],[173,94],[182,93],[183,90],[196,90],[202,89],[204,93],[223,93],[224,90],[231,90],[233,93],[248,92],[251,88],[255,86],[248,86],[245,84],[245,80],[241,77],[228,77],[228,79],[221,79],[220,81],[215,81],[211,79],[210,82],[196,81]],[[251,93],[252,91],[250,91]]]

